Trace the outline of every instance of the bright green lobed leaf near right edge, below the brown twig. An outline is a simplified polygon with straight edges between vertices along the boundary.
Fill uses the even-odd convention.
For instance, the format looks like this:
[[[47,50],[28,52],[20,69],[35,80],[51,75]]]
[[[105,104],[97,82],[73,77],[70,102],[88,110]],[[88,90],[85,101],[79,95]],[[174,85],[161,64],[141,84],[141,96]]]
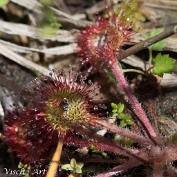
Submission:
[[[175,60],[168,55],[159,53],[154,59],[154,63],[153,73],[158,76],[163,76],[164,73],[171,73],[175,69]]]

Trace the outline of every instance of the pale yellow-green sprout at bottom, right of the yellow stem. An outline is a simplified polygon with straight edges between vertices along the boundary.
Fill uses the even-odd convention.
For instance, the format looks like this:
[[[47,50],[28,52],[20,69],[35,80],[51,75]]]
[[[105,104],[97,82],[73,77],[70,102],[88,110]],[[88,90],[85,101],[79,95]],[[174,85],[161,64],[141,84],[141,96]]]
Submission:
[[[74,158],[70,160],[70,164],[64,164],[62,165],[63,170],[69,170],[72,173],[69,175],[69,177],[75,177],[75,174],[81,174],[82,173],[82,167],[84,166],[83,163],[77,163]]]

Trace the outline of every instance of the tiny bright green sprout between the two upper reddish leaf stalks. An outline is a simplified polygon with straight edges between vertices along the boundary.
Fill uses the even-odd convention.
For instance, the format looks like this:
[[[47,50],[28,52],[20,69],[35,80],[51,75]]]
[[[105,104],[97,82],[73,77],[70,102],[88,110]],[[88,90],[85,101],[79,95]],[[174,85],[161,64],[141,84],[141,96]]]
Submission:
[[[131,126],[134,124],[134,122],[130,120],[131,115],[123,113],[124,108],[125,108],[124,104],[111,103],[111,107],[113,108],[111,116],[120,119],[120,126],[121,127],[125,127],[127,125]]]

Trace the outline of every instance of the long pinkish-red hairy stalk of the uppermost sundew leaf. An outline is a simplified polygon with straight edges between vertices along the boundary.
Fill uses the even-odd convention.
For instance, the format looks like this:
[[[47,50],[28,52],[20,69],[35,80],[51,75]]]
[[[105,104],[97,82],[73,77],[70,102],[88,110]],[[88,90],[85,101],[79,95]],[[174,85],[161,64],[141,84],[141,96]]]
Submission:
[[[116,60],[112,60],[112,61],[116,61]],[[150,137],[150,139],[153,141],[154,144],[158,144],[157,135],[156,135],[148,117],[146,116],[145,112],[143,111],[140,103],[138,102],[138,99],[136,98],[133,91],[131,90],[130,85],[128,84],[126,78],[124,77],[124,74],[122,73],[121,69],[118,67],[117,61],[114,64],[110,65],[110,68],[111,68],[113,74],[115,75],[116,79],[119,81],[119,84],[121,85],[121,87],[125,91],[132,107],[134,108],[135,114],[140,119],[148,136]]]

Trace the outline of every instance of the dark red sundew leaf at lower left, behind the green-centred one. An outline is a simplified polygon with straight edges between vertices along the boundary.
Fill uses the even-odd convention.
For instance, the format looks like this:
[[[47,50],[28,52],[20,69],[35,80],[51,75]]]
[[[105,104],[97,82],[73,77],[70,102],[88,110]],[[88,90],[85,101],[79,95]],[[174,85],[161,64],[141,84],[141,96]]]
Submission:
[[[38,111],[26,109],[19,115],[10,114],[4,128],[9,151],[15,151],[21,162],[50,162],[59,136]]]

